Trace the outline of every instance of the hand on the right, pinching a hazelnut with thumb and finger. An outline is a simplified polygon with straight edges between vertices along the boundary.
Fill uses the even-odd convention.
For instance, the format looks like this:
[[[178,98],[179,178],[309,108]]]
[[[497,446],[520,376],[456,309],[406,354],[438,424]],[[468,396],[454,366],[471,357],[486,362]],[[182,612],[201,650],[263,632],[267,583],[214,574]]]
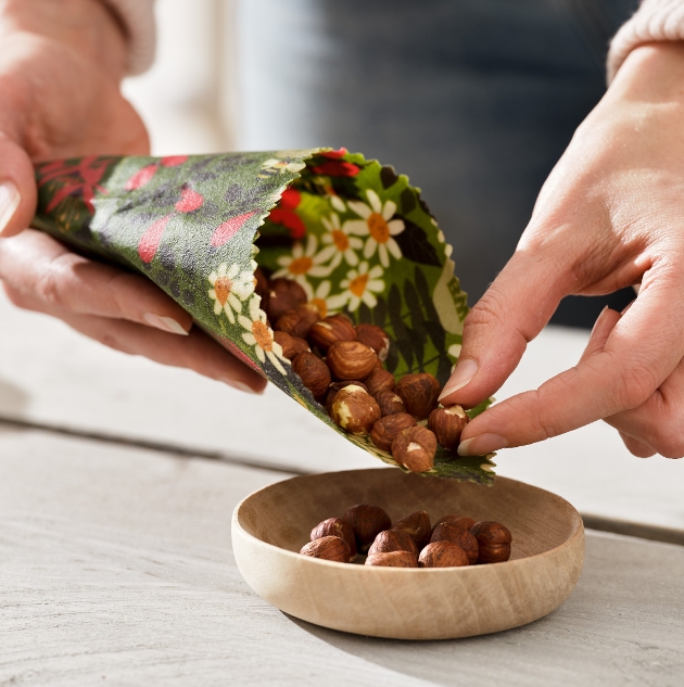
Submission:
[[[605,419],[635,455],[684,456],[684,46],[634,50],[544,185],[514,257],[465,323],[443,403],[495,392],[569,294],[641,282],[578,365],[470,422],[461,455]]]

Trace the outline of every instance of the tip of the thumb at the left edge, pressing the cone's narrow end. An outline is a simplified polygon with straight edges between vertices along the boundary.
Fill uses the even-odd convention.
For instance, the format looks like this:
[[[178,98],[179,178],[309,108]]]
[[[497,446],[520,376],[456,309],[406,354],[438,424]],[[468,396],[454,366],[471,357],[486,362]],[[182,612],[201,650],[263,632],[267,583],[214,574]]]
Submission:
[[[36,213],[34,165],[20,145],[0,133],[0,238],[30,225]]]

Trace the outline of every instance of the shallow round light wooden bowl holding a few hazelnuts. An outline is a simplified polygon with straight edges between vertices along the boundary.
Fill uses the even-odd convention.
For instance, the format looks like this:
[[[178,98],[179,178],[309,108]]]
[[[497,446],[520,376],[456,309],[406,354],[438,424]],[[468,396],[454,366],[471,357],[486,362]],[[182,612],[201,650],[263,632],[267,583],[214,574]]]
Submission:
[[[312,529],[355,504],[396,520],[427,510],[495,520],[512,533],[510,560],[467,568],[400,569],[301,556]],[[248,496],[232,517],[240,572],[261,597],[295,618],[397,639],[469,637],[523,625],[570,595],[584,561],[578,511],[555,494],[497,478],[492,487],[401,470],[299,476]]]

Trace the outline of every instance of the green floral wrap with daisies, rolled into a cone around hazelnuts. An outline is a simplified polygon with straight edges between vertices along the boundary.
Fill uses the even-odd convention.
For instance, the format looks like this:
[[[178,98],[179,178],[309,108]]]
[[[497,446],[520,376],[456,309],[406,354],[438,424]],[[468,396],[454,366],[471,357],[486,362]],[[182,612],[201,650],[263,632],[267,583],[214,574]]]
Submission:
[[[257,263],[297,281],[321,316],[344,311],[382,327],[392,341],[385,368],[397,379],[425,371],[443,384],[452,371],[466,294],[419,191],[392,167],[315,149],[84,157],[41,164],[37,180],[36,228],[149,277],[337,431],[274,341],[254,293]],[[341,433],[396,465],[367,437]],[[491,484],[490,458],[440,449],[426,474]]]

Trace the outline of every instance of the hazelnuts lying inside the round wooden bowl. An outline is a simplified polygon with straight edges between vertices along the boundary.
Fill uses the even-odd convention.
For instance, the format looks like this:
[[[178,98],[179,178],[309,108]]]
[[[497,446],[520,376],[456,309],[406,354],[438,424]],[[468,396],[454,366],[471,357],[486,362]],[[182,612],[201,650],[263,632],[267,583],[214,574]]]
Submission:
[[[353,563],[367,554],[366,565],[385,568],[458,568],[501,563],[510,557],[510,531],[493,521],[466,516],[440,518],[434,527],[419,510],[394,524],[382,508],[359,504],[342,518],[319,522],[300,554]]]

